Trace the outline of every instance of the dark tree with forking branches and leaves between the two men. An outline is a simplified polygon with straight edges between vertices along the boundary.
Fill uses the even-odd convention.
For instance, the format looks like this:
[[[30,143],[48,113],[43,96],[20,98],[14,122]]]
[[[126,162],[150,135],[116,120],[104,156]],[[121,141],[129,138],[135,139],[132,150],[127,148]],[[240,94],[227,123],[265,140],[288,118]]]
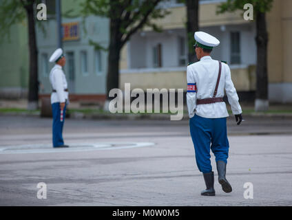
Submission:
[[[107,94],[119,86],[119,59],[123,45],[145,26],[161,31],[154,20],[161,19],[169,13],[165,8],[158,7],[161,1],[163,0],[85,0],[81,4],[83,16],[93,14],[110,19]],[[98,47],[93,41],[91,44]]]

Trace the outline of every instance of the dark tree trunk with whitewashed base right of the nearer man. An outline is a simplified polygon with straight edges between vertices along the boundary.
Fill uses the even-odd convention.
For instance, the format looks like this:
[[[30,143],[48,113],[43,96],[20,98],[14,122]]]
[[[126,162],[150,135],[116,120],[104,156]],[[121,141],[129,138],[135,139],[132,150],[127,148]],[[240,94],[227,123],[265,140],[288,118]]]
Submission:
[[[258,12],[256,16],[256,32],[257,67],[255,111],[267,111],[269,108],[267,72],[268,33],[265,13]]]

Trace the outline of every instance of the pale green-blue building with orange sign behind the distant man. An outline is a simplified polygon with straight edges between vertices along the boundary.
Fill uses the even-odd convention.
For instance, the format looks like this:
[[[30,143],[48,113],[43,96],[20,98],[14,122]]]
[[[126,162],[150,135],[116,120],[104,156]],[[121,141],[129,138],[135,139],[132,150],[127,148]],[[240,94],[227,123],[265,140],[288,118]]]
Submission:
[[[62,14],[72,10],[79,14],[81,1],[62,1]],[[45,32],[37,30],[39,49],[39,81],[41,97],[50,96],[52,91],[49,75],[54,64],[49,63],[51,54],[56,50],[56,19],[45,21]],[[62,17],[63,51],[67,63],[63,68],[70,100],[105,100],[107,71],[107,52],[95,50],[90,41],[107,47],[109,39],[108,19],[101,17]]]

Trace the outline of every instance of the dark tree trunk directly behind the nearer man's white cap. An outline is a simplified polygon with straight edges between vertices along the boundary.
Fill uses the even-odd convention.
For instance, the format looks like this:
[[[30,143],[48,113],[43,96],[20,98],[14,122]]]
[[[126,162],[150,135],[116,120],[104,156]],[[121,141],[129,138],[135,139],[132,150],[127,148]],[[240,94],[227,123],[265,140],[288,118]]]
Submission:
[[[199,30],[198,14],[199,0],[187,0],[187,42],[188,42],[188,61],[194,63],[198,61],[194,50],[194,32]]]

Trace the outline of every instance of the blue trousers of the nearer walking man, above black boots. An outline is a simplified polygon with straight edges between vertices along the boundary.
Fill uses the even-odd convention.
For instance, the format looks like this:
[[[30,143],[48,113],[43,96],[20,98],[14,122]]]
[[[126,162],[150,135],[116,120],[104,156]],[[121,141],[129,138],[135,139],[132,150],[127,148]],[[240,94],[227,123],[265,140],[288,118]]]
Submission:
[[[195,148],[196,164],[200,172],[212,171],[210,148],[216,157],[216,162],[222,160],[227,164],[229,142],[226,118],[202,118],[194,115],[189,120],[189,128]]]

